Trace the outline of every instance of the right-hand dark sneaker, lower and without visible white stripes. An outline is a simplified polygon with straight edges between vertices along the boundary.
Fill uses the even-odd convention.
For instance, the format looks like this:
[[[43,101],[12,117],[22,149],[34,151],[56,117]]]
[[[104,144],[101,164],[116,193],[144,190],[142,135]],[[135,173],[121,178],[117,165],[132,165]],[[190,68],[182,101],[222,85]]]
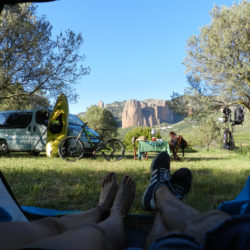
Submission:
[[[172,193],[182,200],[188,194],[192,184],[192,173],[188,168],[180,168],[171,178]]]

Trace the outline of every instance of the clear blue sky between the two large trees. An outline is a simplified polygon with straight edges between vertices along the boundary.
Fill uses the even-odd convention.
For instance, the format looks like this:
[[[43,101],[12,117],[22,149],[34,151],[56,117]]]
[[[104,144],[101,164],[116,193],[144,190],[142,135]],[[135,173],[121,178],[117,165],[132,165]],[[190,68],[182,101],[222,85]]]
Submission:
[[[53,35],[81,32],[85,66],[91,73],[76,85],[79,99],[70,113],[99,100],[169,99],[187,86],[187,39],[209,24],[214,4],[231,0],[60,0],[38,5]],[[236,1],[237,2],[237,1]]]

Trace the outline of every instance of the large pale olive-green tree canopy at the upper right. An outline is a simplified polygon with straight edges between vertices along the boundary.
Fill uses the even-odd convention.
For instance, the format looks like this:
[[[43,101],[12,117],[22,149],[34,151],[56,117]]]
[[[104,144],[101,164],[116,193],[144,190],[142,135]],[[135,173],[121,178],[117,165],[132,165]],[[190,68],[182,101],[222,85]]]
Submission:
[[[250,3],[215,6],[211,23],[187,43],[188,93],[203,102],[242,104],[250,110]],[[201,98],[201,99],[199,99]]]

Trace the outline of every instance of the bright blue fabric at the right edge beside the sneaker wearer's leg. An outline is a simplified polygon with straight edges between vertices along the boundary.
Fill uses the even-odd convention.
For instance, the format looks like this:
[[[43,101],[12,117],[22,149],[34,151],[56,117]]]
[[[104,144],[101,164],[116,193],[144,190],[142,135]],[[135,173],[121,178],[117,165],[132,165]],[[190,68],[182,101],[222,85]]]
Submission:
[[[250,176],[239,195],[234,200],[221,203],[218,209],[232,216],[250,214]]]

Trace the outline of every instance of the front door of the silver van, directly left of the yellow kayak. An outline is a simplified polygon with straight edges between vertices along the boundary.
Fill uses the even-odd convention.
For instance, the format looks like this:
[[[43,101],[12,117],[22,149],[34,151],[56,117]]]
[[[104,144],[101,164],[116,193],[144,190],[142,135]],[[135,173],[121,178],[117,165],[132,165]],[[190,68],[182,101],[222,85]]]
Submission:
[[[31,124],[31,145],[34,151],[45,151],[49,112],[37,110]]]

